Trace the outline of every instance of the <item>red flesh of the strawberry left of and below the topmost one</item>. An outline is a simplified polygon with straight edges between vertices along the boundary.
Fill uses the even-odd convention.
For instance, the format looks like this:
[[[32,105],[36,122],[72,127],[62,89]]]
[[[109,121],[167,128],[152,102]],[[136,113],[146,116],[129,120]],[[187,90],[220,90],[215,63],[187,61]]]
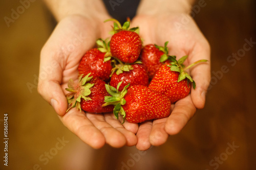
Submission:
[[[88,75],[98,77],[104,81],[108,81],[111,75],[111,61],[104,62],[105,53],[100,52],[97,48],[93,48],[82,57],[78,71],[80,75]]]

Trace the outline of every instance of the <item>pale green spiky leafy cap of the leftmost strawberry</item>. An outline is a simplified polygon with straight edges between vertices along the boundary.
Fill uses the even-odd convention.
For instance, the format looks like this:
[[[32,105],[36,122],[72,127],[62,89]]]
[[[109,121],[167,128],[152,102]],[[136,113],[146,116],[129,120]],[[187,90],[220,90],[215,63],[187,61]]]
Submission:
[[[66,98],[69,103],[69,108],[66,112],[68,112],[71,108],[76,107],[77,110],[81,111],[81,98],[84,99],[85,101],[87,100],[92,100],[91,98],[88,97],[88,95],[91,94],[90,88],[94,86],[94,84],[87,83],[89,82],[93,76],[89,77],[91,73],[89,73],[87,76],[84,78],[82,77],[83,75],[80,75],[78,78],[78,83],[75,83],[72,79],[69,80],[68,82],[68,87],[66,88],[68,93],[66,95]]]

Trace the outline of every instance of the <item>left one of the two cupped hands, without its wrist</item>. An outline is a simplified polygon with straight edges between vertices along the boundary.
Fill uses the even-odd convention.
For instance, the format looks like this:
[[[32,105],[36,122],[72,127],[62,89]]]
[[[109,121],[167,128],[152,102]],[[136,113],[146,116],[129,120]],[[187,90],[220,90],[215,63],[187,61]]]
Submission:
[[[62,123],[91,147],[101,148],[105,143],[115,148],[135,145],[138,125],[121,125],[113,113],[90,114],[75,108],[66,113],[68,81],[78,78],[77,68],[84,53],[97,38],[106,38],[111,29],[112,23],[103,21],[80,15],[61,19],[41,50],[38,92],[53,106]]]

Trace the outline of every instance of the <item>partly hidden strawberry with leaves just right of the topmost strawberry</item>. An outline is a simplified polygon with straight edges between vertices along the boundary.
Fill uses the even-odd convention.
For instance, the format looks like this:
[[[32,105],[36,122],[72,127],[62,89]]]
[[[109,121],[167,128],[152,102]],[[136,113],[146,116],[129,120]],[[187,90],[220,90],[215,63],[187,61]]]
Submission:
[[[141,50],[141,61],[150,79],[153,79],[157,70],[163,65],[163,63],[160,62],[160,58],[167,57],[167,44],[168,41],[165,42],[164,47],[158,46],[156,44],[148,44]]]

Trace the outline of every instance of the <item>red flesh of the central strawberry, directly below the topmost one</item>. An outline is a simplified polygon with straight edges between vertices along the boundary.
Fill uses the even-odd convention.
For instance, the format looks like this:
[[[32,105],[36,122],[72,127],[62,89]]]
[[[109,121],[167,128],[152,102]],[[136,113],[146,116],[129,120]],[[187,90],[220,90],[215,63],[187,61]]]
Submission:
[[[131,86],[148,86],[148,76],[143,66],[141,64],[133,64],[129,66],[130,69],[128,71],[122,71],[122,73],[118,71],[115,72],[110,79],[110,85],[113,87],[117,87],[118,83],[122,81],[123,83],[119,87],[119,90],[123,90],[124,86],[126,86],[129,83],[131,84]]]

